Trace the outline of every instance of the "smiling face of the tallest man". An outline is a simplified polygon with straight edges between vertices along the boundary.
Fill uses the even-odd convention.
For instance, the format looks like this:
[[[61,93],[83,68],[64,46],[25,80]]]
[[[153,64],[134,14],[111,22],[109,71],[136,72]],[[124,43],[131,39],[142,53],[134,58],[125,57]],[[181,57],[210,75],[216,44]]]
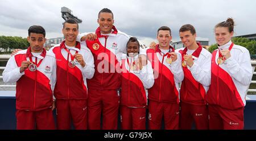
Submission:
[[[114,24],[113,15],[111,13],[100,13],[98,16],[98,24],[102,34],[110,34]]]

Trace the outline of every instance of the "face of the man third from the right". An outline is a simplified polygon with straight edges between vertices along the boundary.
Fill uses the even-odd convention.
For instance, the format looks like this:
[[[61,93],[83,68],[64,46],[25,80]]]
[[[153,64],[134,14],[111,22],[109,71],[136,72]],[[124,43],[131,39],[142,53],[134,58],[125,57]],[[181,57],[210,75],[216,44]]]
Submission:
[[[168,30],[159,30],[157,39],[160,48],[168,49],[170,47],[172,36]]]

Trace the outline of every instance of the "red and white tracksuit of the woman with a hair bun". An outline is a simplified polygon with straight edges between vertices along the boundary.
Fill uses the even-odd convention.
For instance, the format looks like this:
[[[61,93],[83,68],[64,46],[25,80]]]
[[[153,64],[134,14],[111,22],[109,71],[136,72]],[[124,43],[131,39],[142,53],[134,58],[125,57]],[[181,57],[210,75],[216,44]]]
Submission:
[[[232,46],[233,45],[233,46]],[[229,49],[230,57],[218,64],[220,49]],[[207,92],[210,129],[243,129],[243,109],[253,70],[245,47],[228,43],[212,53],[211,85]]]

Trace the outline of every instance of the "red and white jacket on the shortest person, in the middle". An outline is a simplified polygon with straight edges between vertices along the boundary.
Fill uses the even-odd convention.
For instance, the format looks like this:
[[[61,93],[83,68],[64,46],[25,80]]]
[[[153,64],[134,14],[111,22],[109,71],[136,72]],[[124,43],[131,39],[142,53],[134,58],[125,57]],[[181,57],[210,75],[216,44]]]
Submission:
[[[138,61],[138,55],[128,57],[123,54],[121,61],[121,101],[120,104],[127,107],[146,107],[147,93],[154,84],[154,74],[150,61],[142,70],[132,70],[131,65]]]

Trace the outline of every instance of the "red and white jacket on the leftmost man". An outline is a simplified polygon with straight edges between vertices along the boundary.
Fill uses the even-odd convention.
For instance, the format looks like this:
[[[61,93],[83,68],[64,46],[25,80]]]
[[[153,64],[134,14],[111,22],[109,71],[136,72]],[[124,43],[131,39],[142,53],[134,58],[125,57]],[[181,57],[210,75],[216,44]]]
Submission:
[[[25,69],[20,73],[24,60],[38,64],[37,70],[31,72]],[[41,55],[35,57],[31,47],[19,51],[8,60],[3,71],[3,81],[16,82],[16,109],[39,111],[52,107],[52,92],[56,82],[55,56],[43,49]]]

